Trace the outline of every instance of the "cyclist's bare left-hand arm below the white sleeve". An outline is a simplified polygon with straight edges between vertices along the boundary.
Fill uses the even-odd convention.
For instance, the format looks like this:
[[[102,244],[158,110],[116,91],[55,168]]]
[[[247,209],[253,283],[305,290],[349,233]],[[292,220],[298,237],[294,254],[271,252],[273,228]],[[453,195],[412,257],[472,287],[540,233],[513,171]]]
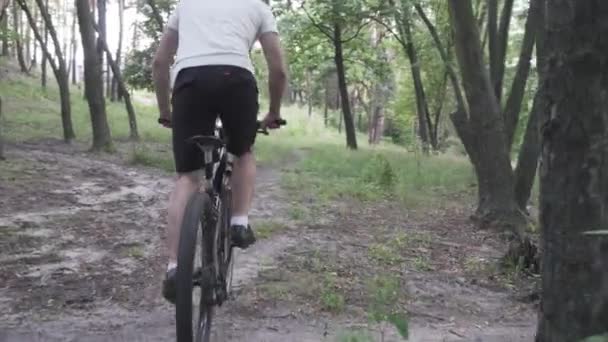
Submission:
[[[161,119],[171,120],[170,106],[170,67],[175,57],[178,44],[176,30],[167,28],[160,39],[160,44],[154,55],[152,63],[152,76],[154,89]]]

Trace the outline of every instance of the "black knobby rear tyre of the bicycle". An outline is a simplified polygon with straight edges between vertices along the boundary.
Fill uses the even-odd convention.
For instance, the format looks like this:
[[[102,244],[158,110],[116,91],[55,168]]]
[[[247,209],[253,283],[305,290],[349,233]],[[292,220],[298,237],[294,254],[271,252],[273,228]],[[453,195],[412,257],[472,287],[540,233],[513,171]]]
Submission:
[[[177,342],[208,342],[211,335],[211,324],[213,321],[213,305],[206,302],[205,286],[201,285],[201,298],[199,303],[199,319],[196,324],[196,333],[193,329],[193,302],[192,291],[194,289],[194,258],[197,246],[201,249],[201,267],[203,276],[205,271],[212,269],[208,258],[209,246],[205,246],[205,230],[211,226],[212,204],[206,193],[196,192],[186,206],[184,218],[181,225],[179,252],[177,258],[176,273],[176,305],[175,326]],[[199,230],[201,239],[198,239]]]

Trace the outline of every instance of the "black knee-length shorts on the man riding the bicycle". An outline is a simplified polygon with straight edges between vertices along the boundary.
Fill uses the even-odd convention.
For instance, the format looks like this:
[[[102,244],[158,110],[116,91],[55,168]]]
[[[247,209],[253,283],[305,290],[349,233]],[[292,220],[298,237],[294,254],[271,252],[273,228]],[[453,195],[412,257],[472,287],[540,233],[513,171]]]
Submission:
[[[179,72],[173,87],[173,156],[178,173],[203,166],[203,156],[187,140],[213,135],[217,117],[228,139],[228,152],[251,151],[257,132],[258,88],[253,74],[236,66],[210,65]]]

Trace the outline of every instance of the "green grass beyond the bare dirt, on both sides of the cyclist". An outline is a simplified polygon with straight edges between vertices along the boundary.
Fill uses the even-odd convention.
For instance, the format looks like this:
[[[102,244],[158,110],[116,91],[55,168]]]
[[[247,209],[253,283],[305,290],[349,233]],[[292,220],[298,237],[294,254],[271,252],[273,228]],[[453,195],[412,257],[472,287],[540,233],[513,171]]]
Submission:
[[[6,63],[5,63],[6,64]],[[9,66],[10,67],[10,66]],[[135,97],[150,97],[136,92]],[[61,139],[59,95],[49,78],[45,91],[38,77],[10,72],[0,82],[4,100],[7,139],[14,142],[47,138]],[[90,144],[91,124],[82,89],[72,91],[72,120],[77,141]],[[154,106],[135,102],[141,142],[122,143],[129,137],[127,114],[122,103],[107,102],[107,115],[117,150],[136,165],[172,171],[170,131],[156,123]],[[355,199],[363,202],[396,199],[407,206],[434,205],[450,202],[454,194],[472,194],[474,176],[469,162],[461,156],[423,156],[402,147],[382,143],[367,146],[359,134],[360,149],[345,148],[344,137],[324,127],[320,115],[308,117],[305,108],[284,110],[288,125],[270,136],[258,136],[256,157],[261,164],[281,166],[283,161],[297,161],[295,172],[284,174],[283,184],[298,199],[322,207],[336,200]],[[126,147],[125,147],[126,145]],[[164,148],[159,148],[163,146]],[[314,199],[314,201],[311,201]],[[294,219],[314,214],[309,205],[294,209]],[[308,211],[308,212],[304,212]]]

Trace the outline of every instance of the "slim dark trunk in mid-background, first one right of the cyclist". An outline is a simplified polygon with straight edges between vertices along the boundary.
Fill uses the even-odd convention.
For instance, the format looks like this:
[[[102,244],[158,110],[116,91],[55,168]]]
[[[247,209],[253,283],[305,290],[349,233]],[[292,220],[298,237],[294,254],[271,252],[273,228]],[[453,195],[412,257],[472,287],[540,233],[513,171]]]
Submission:
[[[346,146],[348,148],[357,149],[357,136],[355,133],[355,123],[353,114],[350,109],[350,101],[348,99],[348,87],[346,85],[346,68],[344,67],[344,55],[342,51],[342,27],[338,22],[334,23],[334,61],[336,63],[336,71],[338,73],[338,88],[340,90],[340,98],[342,100],[342,114],[344,116],[344,129],[346,131]]]

